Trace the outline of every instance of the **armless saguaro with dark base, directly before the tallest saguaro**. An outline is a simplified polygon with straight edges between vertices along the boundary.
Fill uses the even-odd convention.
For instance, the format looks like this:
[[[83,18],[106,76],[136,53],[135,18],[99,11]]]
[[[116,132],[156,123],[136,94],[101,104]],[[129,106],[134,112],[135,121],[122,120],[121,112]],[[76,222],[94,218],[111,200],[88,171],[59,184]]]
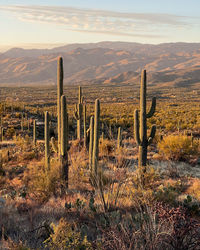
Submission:
[[[68,114],[66,98],[63,95],[61,97],[61,169],[63,177],[68,188]]]

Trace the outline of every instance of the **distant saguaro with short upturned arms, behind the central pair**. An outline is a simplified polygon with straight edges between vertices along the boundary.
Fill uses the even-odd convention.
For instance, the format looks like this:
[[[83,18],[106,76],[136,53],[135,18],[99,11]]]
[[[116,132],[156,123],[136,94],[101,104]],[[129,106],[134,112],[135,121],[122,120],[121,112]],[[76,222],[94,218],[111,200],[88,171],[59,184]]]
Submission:
[[[82,88],[79,86],[78,104],[75,104],[74,117],[77,120],[77,139],[81,139],[81,127],[83,116]]]

